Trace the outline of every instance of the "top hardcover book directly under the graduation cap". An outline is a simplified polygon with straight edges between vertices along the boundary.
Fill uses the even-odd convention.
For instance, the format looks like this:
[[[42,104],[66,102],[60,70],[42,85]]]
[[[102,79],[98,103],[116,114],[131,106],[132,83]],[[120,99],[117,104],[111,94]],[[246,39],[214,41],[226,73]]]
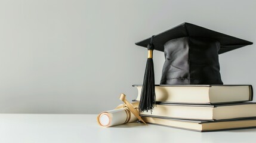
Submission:
[[[140,101],[142,85],[136,101]],[[251,85],[156,85],[156,102],[178,104],[225,104],[252,101]]]

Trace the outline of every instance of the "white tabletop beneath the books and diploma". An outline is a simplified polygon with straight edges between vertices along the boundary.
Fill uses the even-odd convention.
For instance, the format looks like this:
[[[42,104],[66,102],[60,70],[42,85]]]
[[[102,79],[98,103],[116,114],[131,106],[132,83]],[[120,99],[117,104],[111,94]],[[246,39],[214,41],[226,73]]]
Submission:
[[[0,142],[255,142],[256,129],[195,132],[142,123],[112,128],[95,114],[0,114]]]

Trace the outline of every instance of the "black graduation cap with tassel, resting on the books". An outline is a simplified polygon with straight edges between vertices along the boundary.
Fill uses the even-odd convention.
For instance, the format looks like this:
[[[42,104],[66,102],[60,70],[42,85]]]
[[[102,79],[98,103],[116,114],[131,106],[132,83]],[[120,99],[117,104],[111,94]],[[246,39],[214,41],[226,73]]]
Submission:
[[[153,49],[165,54],[161,85],[222,85],[218,54],[252,42],[183,23],[135,44],[149,50],[139,106],[144,111],[155,106]]]

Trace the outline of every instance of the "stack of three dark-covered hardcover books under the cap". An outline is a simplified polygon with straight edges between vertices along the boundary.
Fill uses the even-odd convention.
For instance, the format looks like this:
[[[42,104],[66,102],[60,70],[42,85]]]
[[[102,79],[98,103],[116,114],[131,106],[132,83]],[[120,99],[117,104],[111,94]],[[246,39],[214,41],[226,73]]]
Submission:
[[[142,85],[133,85],[138,89]],[[251,85],[156,85],[157,105],[141,112],[150,124],[208,132],[256,128]]]

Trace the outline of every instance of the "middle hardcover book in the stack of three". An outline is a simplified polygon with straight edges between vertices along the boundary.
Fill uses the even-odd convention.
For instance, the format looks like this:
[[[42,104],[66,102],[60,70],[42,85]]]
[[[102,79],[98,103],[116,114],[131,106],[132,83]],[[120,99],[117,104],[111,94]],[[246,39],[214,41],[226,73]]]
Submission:
[[[141,116],[189,120],[226,120],[256,117],[256,102],[220,105],[158,104]]]

